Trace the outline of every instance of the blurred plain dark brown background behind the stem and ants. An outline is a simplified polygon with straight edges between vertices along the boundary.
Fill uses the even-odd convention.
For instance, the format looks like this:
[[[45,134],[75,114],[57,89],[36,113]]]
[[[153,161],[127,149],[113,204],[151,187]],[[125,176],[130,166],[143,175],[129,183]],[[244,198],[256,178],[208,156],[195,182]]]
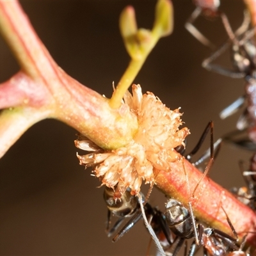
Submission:
[[[120,12],[132,4],[138,26],[151,28],[156,1],[21,4],[60,67],[110,97],[112,81],[118,83],[129,61],[118,30]],[[191,131],[189,151],[209,120],[214,121],[215,138],[234,130],[239,114],[220,120],[218,113],[243,94],[244,81],[201,67],[211,51],[184,29],[194,6],[188,0],[173,1],[173,6],[172,36],[161,39],[134,83],[140,83],[143,92],[154,92],[169,108],[181,107],[182,120]],[[233,28],[241,24],[243,8],[242,1],[221,3]],[[227,38],[219,19],[200,17],[196,25],[216,45]],[[228,63],[228,54],[223,60]],[[19,70],[3,38],[0,70],[1,82]],[[45,120],[31,127],[0,160],[0,255],[145,255],[150,236],[142,221],[115,244],[106,237],[103,188],[96,188],[99,181],[79,166],[75,139],[74,129]],[[212,179],[226,188],[243,185],[237,162],[249,157],[244,150],[223,145]],[[155,189],[150,202],[163,209],[165,198]]]

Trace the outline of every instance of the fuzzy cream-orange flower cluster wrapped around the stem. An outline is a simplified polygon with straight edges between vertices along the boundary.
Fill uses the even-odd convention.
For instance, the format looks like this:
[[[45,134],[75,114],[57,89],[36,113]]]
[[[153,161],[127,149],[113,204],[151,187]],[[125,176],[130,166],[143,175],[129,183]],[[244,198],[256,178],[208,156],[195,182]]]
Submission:
[[[137,116],[139,124],[129,144],[106,151],[83,136],[75,141],[76,147],[90,152],[77,155],[80,164],[94,166],[93,172],[102,184],[115,189],[115,198],[120,198],[127,188],[132,195],[138,195],[143,180],[154,183],[154,170],[170,172],[170,163],[182,158],[174,148],[184,145],[189,134],[187,127],[179,129],[179,109],[166,108],[153,93],[143,95],[139,84],[132,85],[132,95],[125,94],[124,104]]]

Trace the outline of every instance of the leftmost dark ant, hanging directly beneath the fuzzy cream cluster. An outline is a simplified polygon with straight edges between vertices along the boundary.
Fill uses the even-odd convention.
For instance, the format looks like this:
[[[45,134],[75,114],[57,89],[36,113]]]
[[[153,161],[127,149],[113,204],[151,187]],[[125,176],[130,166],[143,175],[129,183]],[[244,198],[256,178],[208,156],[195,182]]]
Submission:
[[[173,243],[173,237],[166,223],[163,212],[159,211],[159,209],[157,209],[156,207],[152,207],[150,204],[148,204],[148,202],[145,201],[145,205],[141,205],[142,202],[140,202],[138,196],[131,195],[129,189],[125,191],[124,195],[122,195],[120,200],[115,200],[114,194],[115,191],[113,191],[113,189],[109,189],[107,187],[105,188],[104,200],[108,206],[108,223],[106,228],[108,237],[112,236],[112,234],[122,224],[125,218],[131,217],[131,219],[125,224],[125,226],[115,235],[115,237],[113,237],[113,242],[118,241],[118,239],[124,236],[124,234],[128,232],[139,220],[141,220],[141,218],[144,218],[144,220],[146,218],[146,220],[150,223],[151,230],[148,228],[146,222],[145,224],[150,234],[152,235],[160,254],[165,255],[163,248],[170,247],[170,244]],[[141,198],[144,198],[142,193]],[[145,217],[143,216],[143,211],[141,211],[141,207],[143,207]],[[117,216],[118,220],[111,228],[111,230],[109,230],[111,213]],[[154,234],[152,234],[152,232]],[[159,244],[157,244],[157,241]]]

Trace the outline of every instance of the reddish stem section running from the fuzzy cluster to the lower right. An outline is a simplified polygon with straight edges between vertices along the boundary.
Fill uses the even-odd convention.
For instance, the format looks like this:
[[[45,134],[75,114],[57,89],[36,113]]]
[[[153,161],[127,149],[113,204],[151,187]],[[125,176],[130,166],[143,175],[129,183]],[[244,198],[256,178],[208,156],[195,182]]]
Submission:
[[[159,172],[156,177],[156,186],[165,195],[180,200],[188,206],[193,190],[198,183],[202,172],[198,171],[195,166],[184,159],[184,165],[181,161],[170,163],[172,172]],[[188,183],[186,180],[188,175]],[[228,225],[227,217],[221,206],[225,209],[234,225],[240,239],[246,232],[256,231],[256,214],[249,207],[239,202],[234,195],[227,189],[222,188],[214,181],[205,177],[195,192],[195,199],[192,200],[193,213],[198,220],[204,221],[207,225],[218,228],[234,236]],[[248,243],[256,246],[256,233],[248,234]]]

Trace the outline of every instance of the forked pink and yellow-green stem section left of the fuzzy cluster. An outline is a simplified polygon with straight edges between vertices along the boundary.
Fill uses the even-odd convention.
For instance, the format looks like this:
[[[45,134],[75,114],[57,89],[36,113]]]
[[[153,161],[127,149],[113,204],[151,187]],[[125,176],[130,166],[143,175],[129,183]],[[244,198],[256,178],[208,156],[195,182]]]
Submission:
[[[36,35],[18,1],[0,1],[0,29],[22,68],[19,75],[0,85],[3,96],[0,108],[35,108],[38,115],[44,113],[40,118],[30,116],[28,123],[20,116],[23,127],[17,129],[16,136],[3,138],[9,134],[4,133],[0,138],[0,143],[1,139],[9,141],[0,144],[0,157],[29,126],[44,118],[65,122],[102,148],[118,148],[131,141],[138,128],[136,116],[124,104],[111,109],[108,99],[61,70]],[[8,91],[14,93],[12,97],[6,97]],[[15,113],[19,115],[18,112],[24,113]],[[6,115],[12,113],[5,112],[4,118],[0,115],[1,127],[16,125],[10,122],[13,118],[6,119]]]

